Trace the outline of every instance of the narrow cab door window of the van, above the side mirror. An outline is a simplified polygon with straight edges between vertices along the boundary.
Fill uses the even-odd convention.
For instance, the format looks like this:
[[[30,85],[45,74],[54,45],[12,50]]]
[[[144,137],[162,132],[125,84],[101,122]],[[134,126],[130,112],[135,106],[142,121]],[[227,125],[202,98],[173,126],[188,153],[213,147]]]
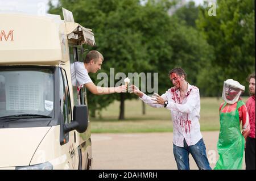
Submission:
[[[71,101],[67,76],[63,69],[60,69],[60,107],[64,115],[64,123],[69,123],[71,121]]]

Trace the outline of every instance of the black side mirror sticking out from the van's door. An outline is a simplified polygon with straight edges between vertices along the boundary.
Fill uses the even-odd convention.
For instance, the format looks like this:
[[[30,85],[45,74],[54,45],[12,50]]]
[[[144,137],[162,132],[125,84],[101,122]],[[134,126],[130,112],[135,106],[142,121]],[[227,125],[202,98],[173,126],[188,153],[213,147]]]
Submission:
[[[65,124],[64,132],[68,133],[74,129],[83,133],[88,127],[88,109],[86,105],[76,105],[73,108],[73,120],[71,123]]]

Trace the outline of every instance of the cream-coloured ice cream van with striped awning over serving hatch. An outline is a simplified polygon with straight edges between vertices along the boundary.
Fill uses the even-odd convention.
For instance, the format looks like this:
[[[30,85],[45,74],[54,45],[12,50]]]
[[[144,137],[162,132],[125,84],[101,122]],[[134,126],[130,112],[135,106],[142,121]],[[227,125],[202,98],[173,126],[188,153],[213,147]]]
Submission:
[[[86,90],[70,65],[92,30],[72,12],[0,14],[0,169],[92,169]]]

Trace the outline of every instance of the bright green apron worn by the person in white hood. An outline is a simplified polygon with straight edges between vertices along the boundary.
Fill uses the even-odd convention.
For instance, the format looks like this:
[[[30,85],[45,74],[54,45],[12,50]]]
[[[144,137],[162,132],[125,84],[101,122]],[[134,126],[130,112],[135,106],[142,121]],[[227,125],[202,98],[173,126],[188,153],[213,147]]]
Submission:
[[[220,157],[214,170],[220,169],[242,169],[243,151],[245,149],[245,138],[240,131],[240,120],[238,108],[245,105],[242,100],[237,102],[236,111],[220,111],[220,134],[218,136],[217,150]]]

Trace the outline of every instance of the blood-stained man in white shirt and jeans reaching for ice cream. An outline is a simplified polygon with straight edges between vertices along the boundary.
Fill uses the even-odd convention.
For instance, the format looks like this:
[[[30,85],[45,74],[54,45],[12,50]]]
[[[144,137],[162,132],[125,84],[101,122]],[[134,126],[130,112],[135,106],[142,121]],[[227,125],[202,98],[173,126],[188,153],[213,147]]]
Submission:
[[[131,85],[132,92],[144,103],[155,108],[167,108],[171,111],[174,125],[174,157],[177,169],[189,170],[191,154],[199,169],[210,170],[203,136],[200,132],[200,94],[196,86],[186,81],[187,74],[181,68],[172,69],[169,78],[174,85],[161,96],[147,96],[136,86]]]

